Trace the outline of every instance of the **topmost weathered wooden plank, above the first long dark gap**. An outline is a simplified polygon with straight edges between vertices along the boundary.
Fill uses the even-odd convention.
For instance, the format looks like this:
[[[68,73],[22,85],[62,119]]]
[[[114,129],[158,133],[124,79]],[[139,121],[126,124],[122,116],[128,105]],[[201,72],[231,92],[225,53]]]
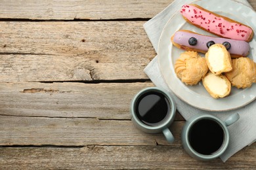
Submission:
[[[127,18],[152,18],[171,1],[3,1],[0,18],[32,20],[108,20]],[[141,10],[143,9],[143,10]]]

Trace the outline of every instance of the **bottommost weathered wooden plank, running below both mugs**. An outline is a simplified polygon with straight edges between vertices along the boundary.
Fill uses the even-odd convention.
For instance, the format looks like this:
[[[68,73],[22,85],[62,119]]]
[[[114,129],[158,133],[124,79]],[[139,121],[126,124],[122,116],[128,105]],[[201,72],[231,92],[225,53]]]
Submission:
[[[0,148],[6,169],[255,169],[256,143],[228,161],[197,161],[181,146]],[[33,154],[32,154],[33,153]]]

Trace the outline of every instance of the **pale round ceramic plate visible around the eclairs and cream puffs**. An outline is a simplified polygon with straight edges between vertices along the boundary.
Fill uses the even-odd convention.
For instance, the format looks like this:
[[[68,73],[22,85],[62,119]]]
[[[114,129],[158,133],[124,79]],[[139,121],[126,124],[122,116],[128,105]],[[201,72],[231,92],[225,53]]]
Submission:
[[[223,16],[228,16],[228,18],[249,25],[253,28],[254,32],[256,31],[256,12],[242,3],[232,0],[203,0],[195,1],[194,3],[207,10],[211,10]],[[245,89],[232,87],[231,93],[227,97],[213,99],[203,87],[202,82],[195,86],[186,86],[186,84],[182,83],[175,74],[174,65],[176,59],[179,58],[184,50],[173,46],[170,41],[171,36],[179,29],[188,29],[204,35],[211,35],[194,25],[188,24],[179,12],[173,15],[165,25],[158,44],[158,63],[165,82],[175,95],[198,109],[212,111],[237,109],[247,105],[255,99],[256,84],[253,84],[251,88]],[[253,40],[249,42],[251,51],[248,58],[253,59],[253,61],[256,61],[255,39],[256,35],[254,35]],[[200,54],[200,56],[204,57],[204,54]]]

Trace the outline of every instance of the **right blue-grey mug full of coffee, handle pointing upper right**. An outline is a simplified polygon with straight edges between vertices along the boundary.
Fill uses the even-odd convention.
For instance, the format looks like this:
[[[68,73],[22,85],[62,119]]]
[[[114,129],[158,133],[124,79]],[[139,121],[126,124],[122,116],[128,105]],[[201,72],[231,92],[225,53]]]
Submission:
[[[229,116],[224,122],[208,114],[190,118],[186,121],[181,134],[184,150],[197,160],[218,158],[229,144],[230,137],[226,127],[239,118],[237,113]]]

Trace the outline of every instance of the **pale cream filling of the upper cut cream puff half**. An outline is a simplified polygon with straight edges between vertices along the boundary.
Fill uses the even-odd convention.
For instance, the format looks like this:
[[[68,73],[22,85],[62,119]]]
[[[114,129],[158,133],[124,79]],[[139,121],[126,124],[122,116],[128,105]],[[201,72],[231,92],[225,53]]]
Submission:
[[[213,71],[222,71],[224,69],[223,49],[219,47],[211,48],[211,50],[209,50],[208,61]]]

